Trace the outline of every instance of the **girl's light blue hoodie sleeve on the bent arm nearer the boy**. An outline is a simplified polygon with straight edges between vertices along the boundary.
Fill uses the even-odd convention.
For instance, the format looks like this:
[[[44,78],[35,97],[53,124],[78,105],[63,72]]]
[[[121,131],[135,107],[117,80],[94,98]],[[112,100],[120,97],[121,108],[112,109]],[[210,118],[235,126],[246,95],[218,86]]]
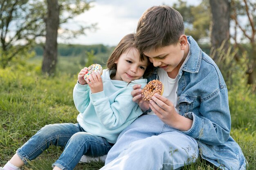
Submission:
[[[108,97],[101,91],[91,94],[91,100],[97,117],[108,130],[119,128],[133,112],[136,117],[142,114],[141,110],[141,113],[135,112],[136,103],[132,101],[131,95],[118,95],[110,104]]]

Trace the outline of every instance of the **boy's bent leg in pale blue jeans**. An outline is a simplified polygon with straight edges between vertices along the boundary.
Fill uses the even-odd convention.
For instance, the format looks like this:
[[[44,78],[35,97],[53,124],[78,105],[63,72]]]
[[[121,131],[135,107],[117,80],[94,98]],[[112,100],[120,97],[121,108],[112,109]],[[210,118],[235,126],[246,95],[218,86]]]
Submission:
[[[134,141],[101,170],[176,170],[199,156],[195,139],[180,132],[164,132]]]

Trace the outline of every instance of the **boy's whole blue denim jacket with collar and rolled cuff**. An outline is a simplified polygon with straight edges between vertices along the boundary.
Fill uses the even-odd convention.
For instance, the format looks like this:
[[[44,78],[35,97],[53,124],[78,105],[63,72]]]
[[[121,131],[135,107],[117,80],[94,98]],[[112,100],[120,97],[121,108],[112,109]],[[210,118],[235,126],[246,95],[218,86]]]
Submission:
[[[191,56],[179,72],[179,114],[193,120],[184,134],[198,141],[200,155],[223,170],[245,170],[245,157],[230,136],[231,118],[227,86],[218,66],[188,36]],[[159,79],[157,68],[148,78]]]

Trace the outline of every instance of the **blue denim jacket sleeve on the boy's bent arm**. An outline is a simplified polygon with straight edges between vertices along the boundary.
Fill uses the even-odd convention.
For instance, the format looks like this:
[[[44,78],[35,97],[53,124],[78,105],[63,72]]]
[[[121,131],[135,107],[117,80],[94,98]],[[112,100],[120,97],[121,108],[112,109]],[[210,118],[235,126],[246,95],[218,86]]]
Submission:
[[[200,69],[196,74],[187,74],[189,81],[186,82],[187,77],[181,79],[186,84],[182,96],[191,101],[186,104],[186,111],[180,111],[193,119],[192,127],[183,132],[205,144],[223,144],[231,129],[227,86],[218,67],[207,58],[202,59]]]

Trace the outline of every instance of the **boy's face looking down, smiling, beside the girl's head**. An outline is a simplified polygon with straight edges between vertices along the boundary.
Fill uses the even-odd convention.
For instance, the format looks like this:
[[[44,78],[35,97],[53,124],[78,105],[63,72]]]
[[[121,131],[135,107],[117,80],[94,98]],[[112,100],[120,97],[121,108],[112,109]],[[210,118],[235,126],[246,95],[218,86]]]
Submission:
[[[144,55],[149,57],[150,62],[155,67],[159,66],[164,71],[171,72],[175,69],[180,69],[182,66],[182,63],[186,59],[186,55],[184,55],[185,49],[186,46],[181,46],[180,43],[177,43],[144,52]]]

